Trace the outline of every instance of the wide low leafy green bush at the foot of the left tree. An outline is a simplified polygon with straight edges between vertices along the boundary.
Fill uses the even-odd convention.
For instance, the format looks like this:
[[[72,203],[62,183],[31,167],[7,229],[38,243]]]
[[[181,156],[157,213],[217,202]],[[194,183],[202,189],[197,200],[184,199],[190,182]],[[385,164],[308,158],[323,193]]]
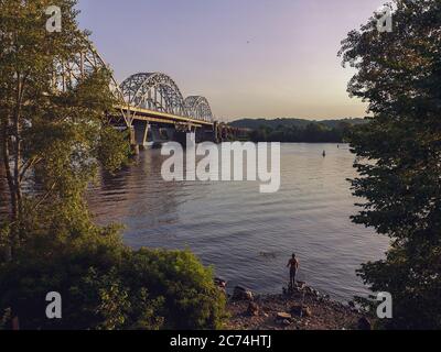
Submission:
[[[22,329],[216,329],[225,297],[211,268],[189,251],[131,251],[94,238],[46,255],[0,266],[0,311],[12,309]],[[98,240],[97,240],[98,239]],[[29,253],[29,251],[25,251]],[[45,316],[45,296],[58,292],[63,318]]]

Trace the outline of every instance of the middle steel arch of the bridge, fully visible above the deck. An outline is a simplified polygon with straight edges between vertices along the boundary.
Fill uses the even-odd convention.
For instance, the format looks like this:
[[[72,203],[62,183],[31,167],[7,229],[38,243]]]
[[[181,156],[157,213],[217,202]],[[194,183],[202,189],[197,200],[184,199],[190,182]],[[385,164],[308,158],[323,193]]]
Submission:
[[[164,74],[136,74],[127,78],[120,88],[130,106],[189,117],[181,90],[174,80]]]

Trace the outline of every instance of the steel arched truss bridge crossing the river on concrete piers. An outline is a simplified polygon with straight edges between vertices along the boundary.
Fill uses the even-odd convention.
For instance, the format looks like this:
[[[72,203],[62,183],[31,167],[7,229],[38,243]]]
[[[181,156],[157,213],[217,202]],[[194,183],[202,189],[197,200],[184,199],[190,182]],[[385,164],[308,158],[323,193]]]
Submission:
[[[73,59],[56,63],[54,86],[66,90],[100,68],[111,72],[94,45],[86,41],[84,50]],[[117,113],[107,118],[115,127],[130,130],[133,145],[170,140],[184,142],[189,132],[196,133],[196,140],[214,142],[244,138],[248,133],[216,121],[206,98],[184,98],[176,82],[162,73],[139,73],[122,84],[111,77],[110,90],[118,101]]]

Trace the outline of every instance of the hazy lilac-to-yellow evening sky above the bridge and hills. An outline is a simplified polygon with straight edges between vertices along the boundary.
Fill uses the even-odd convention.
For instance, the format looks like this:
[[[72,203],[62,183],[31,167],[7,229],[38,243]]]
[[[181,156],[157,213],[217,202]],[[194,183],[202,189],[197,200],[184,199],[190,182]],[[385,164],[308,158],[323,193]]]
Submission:
[[[340,42],[383,0],[79,0],[80,25],[122,81],[171,76],[220,120],[364,117]]]

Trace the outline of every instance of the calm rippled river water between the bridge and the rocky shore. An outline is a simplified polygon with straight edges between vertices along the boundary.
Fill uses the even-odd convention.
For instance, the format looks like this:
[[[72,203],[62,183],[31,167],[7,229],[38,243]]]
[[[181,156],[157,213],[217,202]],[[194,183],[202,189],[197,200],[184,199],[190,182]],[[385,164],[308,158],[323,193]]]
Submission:
[[[189,248],[230,287],[259,293],[281,292],[295,252],[300,278],[319,290],[335,299],[366,293],[355,270],[381,257],[387,240],[349,221],[356,199],[346,178],[355,172],[346,145],[282,145],[281,189],[270,195],[248,182],[165,183],[162,161],[146,151],[89,193],[97,221],[126,224],[130,246]]]

